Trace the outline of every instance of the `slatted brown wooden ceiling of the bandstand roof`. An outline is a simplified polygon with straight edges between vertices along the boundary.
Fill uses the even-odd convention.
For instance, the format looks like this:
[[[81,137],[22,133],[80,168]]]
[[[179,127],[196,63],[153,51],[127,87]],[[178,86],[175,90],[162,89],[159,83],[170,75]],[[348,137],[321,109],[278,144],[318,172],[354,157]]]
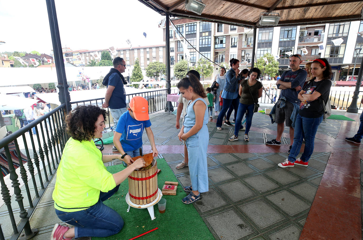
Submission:
[[[260,27],[262,12],[279,13],[278,26],[356,21],[363,0],[201,0],[201,15],[185,10],[185,0],[139,0],[156,12],[170,16],[246,27]]]

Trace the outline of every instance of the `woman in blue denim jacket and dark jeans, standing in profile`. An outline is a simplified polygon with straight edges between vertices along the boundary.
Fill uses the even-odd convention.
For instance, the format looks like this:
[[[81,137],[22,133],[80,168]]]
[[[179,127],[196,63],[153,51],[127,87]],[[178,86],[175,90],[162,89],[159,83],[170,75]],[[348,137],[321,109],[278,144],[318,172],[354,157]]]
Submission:
[[[222,130],[222,122],[223,117],[225,113],[227,112],[228,108],[233,105],[234,111],[237,112],[238,109],[238,81],[240,81],[240,77],[238,76],[238,73],[240,73],[240,70],[238,67],[240,66],[240,61],[238,61],[235,58],[232,58],[229,61],[231,68],[227,71],[226,74],[226,81],[224,85],[224,89],[222,92],[222,98],[223,98],[223,107],[220,111],[218,118],[217,118],[217,130]],[[229,119],[226,119],[227,122],[229,122]],[[229,126],[228,124],[224,123],[225,125]]]

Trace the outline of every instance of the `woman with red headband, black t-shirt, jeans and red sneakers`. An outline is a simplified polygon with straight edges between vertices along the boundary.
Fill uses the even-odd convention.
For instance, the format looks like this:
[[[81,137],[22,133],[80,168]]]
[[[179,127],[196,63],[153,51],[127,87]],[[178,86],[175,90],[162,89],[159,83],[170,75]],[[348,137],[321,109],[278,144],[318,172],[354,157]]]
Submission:
[[[313,77],[298,94],[300,102],[299,113],[296,117],[294,143],[289,157],[279,167],[293,167],[295,164],[307,167],[311,154],[314,151],[315,134],[323,121],[325,105],[331,87],[331,66],[325,58],[315,59],[311,64]],[[305,138],[304,152],[300,152],[302,140]]]

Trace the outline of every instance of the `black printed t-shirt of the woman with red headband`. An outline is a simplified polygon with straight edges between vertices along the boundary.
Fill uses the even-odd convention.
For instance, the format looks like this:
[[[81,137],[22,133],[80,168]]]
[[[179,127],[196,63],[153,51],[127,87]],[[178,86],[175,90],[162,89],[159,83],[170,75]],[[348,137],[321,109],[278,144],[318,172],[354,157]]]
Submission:
[[[324,113],[324,105],[328,101],[330,93],[331,81],[329,79],[315,82],[311,80],[304,87],[304,93],[313,94],[315,91],[321,94],[318,99],[314,101],[301,101],[299,114],[306,118],[319,118]]]

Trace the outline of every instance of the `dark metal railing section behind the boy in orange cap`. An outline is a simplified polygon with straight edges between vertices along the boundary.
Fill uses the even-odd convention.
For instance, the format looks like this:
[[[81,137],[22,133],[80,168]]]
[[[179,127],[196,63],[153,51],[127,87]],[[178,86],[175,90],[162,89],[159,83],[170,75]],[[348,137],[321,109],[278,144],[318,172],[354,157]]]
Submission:
[[[157,82],[150,82],[151,84],[157,84]],[[140,93],[133,93],[126,95],[126,103],[129,103],[131,98],[135,96],[141,96],[145,98],[149,103],[149,114],[155,113],[157,111],[165,109],[166,106],[166,89],[162,90],[154,90],[154,91],[144,91]],[[77,102],[71,102],[72,109],[77,107],[78,105],[95,105],[101,107],[103,102],[105,102],[105,98],[95,98]],[[107,107],[107,110],[110,114],[107,117],[106,121],[106,129],[113,126],[113,118],[111,116],[110,109]],[[111,121],[112,120],[112,121]]]

